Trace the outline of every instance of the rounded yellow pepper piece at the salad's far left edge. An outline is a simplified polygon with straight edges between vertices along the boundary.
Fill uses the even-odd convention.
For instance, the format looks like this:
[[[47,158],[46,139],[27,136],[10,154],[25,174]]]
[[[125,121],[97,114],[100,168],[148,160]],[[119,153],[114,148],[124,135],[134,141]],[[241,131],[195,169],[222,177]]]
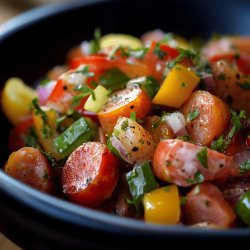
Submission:
[[[2,109],[13,125],[30,113],[30,104],[36,92],[19,78],[10,78],[2,91]]]

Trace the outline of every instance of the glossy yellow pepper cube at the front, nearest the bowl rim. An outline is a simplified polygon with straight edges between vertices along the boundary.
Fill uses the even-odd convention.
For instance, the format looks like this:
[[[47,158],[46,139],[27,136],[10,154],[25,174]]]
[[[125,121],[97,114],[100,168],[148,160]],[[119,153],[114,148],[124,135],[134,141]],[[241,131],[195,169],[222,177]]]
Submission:
[[[146,222],[172,225],[180,220],[180,198],[176,185],[158,188],[145,194],[143,205]]]

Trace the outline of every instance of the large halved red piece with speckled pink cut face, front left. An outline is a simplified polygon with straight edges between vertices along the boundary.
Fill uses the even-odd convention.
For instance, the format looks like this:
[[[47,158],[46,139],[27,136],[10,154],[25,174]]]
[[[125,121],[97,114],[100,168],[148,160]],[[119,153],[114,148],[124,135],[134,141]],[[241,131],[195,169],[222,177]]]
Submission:
[[[118,181],[117,158],[99,142],[87,142],[69,156],[62,173],[63,192],[75,203],[96,207]]]

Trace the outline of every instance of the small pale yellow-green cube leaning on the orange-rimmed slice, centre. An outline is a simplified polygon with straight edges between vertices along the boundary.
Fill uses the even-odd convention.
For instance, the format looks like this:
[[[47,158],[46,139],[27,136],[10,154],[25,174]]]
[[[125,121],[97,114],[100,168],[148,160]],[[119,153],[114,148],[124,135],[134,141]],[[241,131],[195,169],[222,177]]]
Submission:
[[[94,89],[94,96],[90,95],[85,102],[84,109],[97,113],[107,102],[109,93],[110,92],[105,87],[98,85]]]

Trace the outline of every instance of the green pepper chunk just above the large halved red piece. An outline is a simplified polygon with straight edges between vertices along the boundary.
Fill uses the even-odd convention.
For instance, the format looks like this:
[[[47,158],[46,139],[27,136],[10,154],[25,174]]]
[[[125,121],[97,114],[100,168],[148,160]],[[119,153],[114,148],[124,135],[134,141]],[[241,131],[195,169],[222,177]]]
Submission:
[[[97,137],[97,127],[89,118],[81,117],[53,141],[62,158],[69,156],[77,147]]]

